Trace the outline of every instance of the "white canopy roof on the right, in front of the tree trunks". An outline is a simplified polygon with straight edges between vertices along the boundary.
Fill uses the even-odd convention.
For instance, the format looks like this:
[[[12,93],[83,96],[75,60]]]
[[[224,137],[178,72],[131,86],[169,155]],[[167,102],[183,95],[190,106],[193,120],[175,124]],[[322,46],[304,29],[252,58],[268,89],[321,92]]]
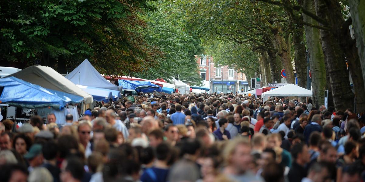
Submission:
[[[283,97],[290,97],[290,96],[300,96],[300,97],[311,97],[312,91],[307,90],[303,87],[299,87],[295,84],[287,84],[274,90],[270,90],[267,92],[262,93],[262,98],[264,101],[268,100],[268,97],[271,96],[283,96]]]

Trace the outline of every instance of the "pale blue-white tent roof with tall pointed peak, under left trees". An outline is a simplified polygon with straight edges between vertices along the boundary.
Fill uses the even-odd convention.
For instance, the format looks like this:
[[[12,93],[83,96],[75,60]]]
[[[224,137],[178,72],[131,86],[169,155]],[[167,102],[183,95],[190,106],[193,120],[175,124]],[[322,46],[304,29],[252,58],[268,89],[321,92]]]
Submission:
[[[101,76],[87,59],[85,59],[68,75],[66,75],[66,78],[74,84],[80,84],[83,86],[105,88],[110,90],[122,89],[119,86],[110,83],[107,79]]]

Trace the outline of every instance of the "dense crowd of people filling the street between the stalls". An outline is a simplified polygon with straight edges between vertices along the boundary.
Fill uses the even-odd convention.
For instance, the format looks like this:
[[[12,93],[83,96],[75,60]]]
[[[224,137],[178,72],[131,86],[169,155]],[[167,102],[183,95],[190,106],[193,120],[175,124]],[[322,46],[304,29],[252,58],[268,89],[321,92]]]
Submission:
[[[0,181],[358,182],[365,118],[312,100],[140,95],[0,123]]]

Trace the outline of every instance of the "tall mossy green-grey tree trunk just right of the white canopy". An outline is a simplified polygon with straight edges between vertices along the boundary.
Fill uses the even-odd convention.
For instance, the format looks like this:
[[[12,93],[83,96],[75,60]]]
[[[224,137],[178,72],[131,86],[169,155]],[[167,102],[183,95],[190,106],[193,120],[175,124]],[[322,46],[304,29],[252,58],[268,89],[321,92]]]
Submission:
[[[300,5],[308,11],[315,13],[313,0],[302,0]],[[317,21],[308,17],[303,13],[303,20],[307,23],[318,25]],[[322,44],[320,42],[319,30],[307,25],[304,25],[306,32],[306,42],[309,54],[309,65],[312,72],[312,91],[313,91],[313,106],[319,108],[324,104],[324,90],[326,86],[326,65],[324,64],[324,55]],[[297,71],[298,74],[298,71]],[[299,78],[298,78],[299,79]]]

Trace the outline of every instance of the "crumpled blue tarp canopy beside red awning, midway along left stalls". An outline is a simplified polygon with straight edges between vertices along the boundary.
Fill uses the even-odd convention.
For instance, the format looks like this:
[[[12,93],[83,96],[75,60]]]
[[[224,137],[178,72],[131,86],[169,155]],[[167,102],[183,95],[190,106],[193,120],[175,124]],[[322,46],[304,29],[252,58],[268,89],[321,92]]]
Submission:
[[[137,92],[150,93],[153,91],[161,92],[162,88],[148,81],[132,81],[132,80],[118,80],[119,86],[123,90],[136,90]]]

